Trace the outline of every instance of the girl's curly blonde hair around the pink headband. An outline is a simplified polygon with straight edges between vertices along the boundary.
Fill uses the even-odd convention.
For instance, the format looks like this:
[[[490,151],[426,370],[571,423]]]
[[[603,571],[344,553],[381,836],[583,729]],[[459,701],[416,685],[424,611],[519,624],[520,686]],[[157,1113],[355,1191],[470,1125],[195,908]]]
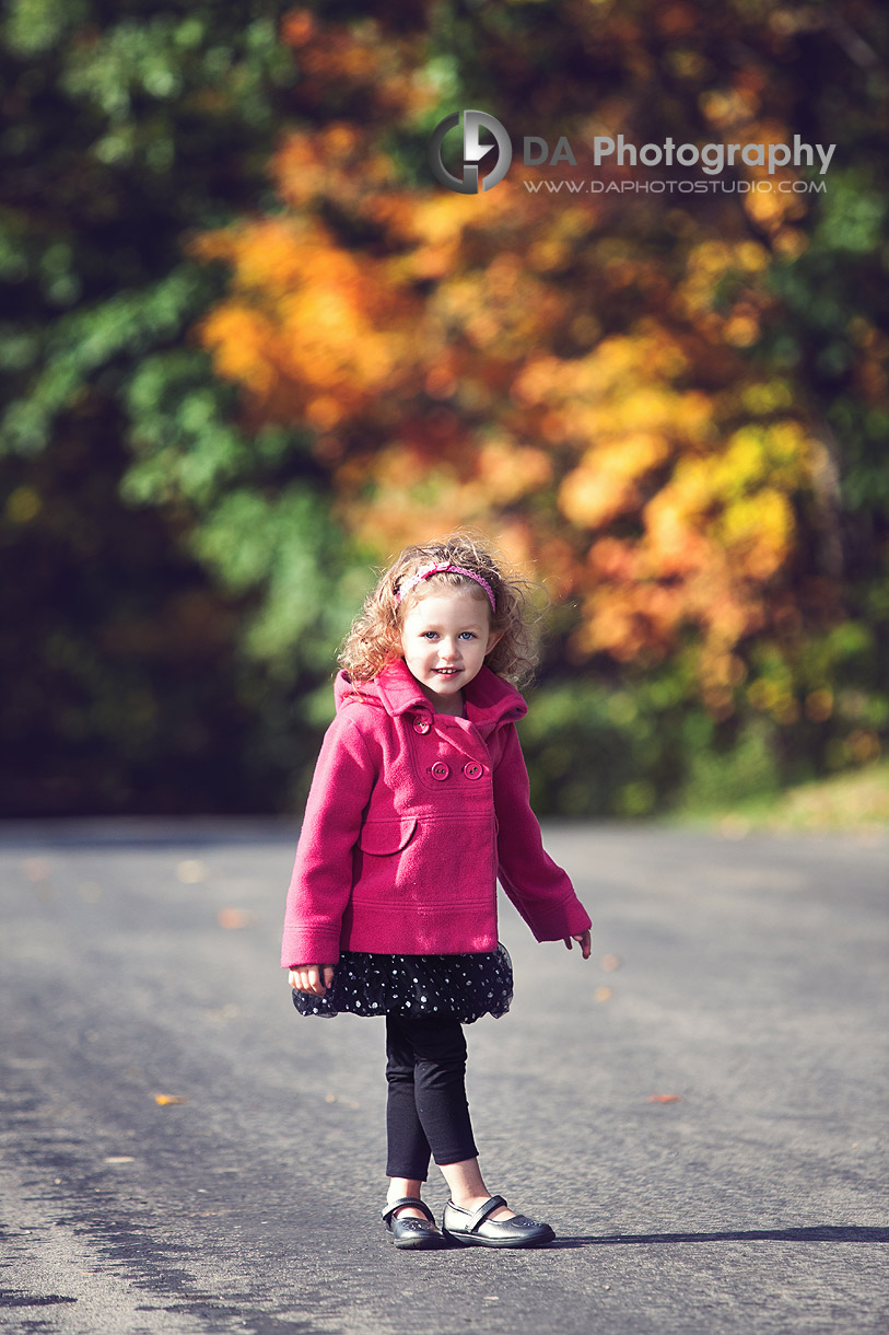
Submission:
[[[407,590],[399,601],[399,589],[419,570],[430,565],[463,566],[481,575],[494,594],[491,630],[501,630],[502,638],[485,659],[486,666],[517,685],[534,673],[537,661],[535,626],[539,613],[530,601],[537,586],[513,570],[505,558],[481,535],[459,530],[424,546],[404,547],[386,570],[380,571],[376,586],[367,594],[364,606],[352,622],[343,641],[339,662],[352,682],[372,681],[374,677],[402,653],[402,621],[414,603],[442,587],[467,589],[490,602],[481,585],[453,570],[422,579]]]

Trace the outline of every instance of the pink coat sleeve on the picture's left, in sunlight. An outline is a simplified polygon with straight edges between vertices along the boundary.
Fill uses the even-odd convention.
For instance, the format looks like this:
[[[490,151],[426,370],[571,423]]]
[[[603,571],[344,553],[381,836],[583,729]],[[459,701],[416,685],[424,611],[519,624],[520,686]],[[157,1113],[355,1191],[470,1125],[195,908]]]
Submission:
[[[280,963],[336,964],[352,889],[352,849],[376,768],[348,712],[324,734],[287,893]]]

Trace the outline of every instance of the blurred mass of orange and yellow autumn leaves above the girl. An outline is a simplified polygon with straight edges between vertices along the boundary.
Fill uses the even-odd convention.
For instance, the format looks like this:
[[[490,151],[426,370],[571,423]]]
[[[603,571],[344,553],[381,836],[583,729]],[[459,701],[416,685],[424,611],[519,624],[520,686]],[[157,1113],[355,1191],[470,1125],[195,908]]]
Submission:
[[[521,168],[483,198],[423,171],[404,184],[383,131],[424,144],[438,93],[422,37],[304,11],[283,35],[315,124],[272,163],[287,212],[196,243],[232,270],[202,327],[220,375],[255,417],[314,433],[339,519],[380,557],[490,529],[577,601],[578,659],[654,662],[691,630],[725,716],[745,672],[733,650],[786,606],[794,498],[818,457],[789,386],[742,355],[769,319],[768,242],[737,204],[689,210],[667,270],[618,226],[625,204],[554,204]],[[702,109],[714,135],[784,138],[760,103],[741,72]],[[776,248],[800,244],[801,196],[742,199]]]

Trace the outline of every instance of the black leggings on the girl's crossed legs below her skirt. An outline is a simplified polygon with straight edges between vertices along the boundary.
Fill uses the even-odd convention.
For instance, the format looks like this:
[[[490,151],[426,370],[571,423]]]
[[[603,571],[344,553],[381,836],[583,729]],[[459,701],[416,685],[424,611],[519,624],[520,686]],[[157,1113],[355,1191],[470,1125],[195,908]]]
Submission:
[[[466,1101],[466,1039],[451,1016],[386,1016],[387,1177],[426,1181],[436,1164],[475,1159]]]

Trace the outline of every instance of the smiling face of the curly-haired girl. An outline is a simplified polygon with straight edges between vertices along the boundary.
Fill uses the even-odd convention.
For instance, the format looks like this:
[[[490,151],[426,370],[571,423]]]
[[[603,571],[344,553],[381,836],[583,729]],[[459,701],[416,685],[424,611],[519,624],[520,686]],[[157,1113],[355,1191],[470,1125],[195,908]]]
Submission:
[[[469,589],[418,598],[402,621],[402,653],[412,676],[440,713],[459,713],[463,686],[502,637],[491,630],[487,598]]]

